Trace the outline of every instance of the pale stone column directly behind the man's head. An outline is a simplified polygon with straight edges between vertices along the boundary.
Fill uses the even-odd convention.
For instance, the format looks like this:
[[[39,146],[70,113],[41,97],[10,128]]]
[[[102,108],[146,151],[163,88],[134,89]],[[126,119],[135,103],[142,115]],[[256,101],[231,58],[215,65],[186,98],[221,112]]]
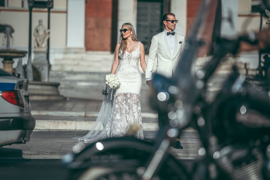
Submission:
[[[179,20],[175,31],[186,35],[187,30],[187,0],[171,0],[171,11]]]

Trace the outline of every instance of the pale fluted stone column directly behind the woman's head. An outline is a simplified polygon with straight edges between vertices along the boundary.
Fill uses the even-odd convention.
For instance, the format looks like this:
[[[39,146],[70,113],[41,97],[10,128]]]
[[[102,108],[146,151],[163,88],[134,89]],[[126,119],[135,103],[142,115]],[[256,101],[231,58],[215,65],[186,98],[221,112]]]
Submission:
[[[117,22],[117,40],[119,38],[119,29],[122,24],[131,22],[137,27],[137,0],[119,0],[118,2],[118,22]]]

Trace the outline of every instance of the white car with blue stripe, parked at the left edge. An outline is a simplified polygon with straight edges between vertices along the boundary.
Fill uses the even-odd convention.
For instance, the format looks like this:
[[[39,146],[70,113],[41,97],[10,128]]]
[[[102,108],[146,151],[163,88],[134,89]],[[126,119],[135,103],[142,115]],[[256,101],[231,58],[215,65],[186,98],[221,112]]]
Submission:
[[[28,80],[0,68],[0,146],[25,143],[35,128]]]

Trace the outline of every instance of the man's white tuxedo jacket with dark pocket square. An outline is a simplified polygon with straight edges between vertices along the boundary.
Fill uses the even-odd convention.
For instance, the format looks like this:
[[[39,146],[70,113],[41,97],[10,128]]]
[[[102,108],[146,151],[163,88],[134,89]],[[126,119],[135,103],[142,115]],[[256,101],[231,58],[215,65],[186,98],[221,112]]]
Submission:
[[[156,72],[168,78],[172,77],[173,72],[176,70],[179,57],[182,54],[183,44],[185,41],[185,37],[182,34],[176,32],[174,36],[175,43],[173,57],[170,53],[165,32],[163,31],[153,36],[149,49],[145,78],[152,78],[152,70],[155,63],[155,57],[158,59]]]

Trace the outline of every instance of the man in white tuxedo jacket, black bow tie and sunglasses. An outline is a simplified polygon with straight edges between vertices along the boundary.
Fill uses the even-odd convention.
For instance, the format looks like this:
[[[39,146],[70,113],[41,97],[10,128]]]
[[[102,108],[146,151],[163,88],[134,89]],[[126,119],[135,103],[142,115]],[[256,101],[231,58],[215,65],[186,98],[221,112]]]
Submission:
[[[162,17],[162,21],[164,24],[164,31],[153,36],[149,49],[145,71],[146,84],[148,86],[151,85],[155,57],[157,56],[158,59],[156,72],[167,78],[171,78],[173,72],[176,71],[176,66],[183,50],[185,37],[174,32],[176,23],[178,22],[175,15],[173,13],[165,13]],[[164,123],[167,122],[164,122],[164,118],[161,117],[161,114],[158,114],[159,127],[162,127]],[[174,147],[176,149],[183,149],[179,139],[176,140]]]

